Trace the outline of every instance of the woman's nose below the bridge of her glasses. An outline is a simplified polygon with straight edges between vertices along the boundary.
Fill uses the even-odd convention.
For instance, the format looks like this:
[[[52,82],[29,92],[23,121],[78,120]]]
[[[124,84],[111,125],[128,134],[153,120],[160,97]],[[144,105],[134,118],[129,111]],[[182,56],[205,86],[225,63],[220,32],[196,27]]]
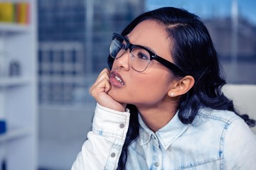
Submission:
[[[118,68],[122,68],[125,70],[129,70],[129,68],[130,68],[129,55],[130,55],[130,53],[129,53],[129,49],[128,49],[124,52],[124,54],[121,57],[116,58],[114,60],[113,67],[115,67],[115,68],[118,67]]]

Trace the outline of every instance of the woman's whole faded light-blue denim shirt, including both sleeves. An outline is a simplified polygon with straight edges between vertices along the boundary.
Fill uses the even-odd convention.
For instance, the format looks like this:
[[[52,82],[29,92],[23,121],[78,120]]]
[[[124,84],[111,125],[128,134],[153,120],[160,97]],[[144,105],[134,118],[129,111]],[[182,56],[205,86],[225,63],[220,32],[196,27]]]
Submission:
[[[128,148],[126,169],[256,169],[256,136],[230,111],[203,108],[193,123],[174,118],[152,132],[139,115],[139,137]],[[97,104],[88,140],[75,169],[117,169],[129,127],[129,111]]]

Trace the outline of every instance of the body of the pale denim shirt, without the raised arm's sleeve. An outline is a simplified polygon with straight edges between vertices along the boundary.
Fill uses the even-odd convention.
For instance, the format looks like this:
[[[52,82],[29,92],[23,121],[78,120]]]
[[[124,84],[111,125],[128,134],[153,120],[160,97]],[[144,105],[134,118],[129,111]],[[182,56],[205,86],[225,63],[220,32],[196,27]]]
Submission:
[[[256,169],[256,136],[230,111],[201,109],[191,125],[176,113],[156,133],[139,123],[127,169]]]

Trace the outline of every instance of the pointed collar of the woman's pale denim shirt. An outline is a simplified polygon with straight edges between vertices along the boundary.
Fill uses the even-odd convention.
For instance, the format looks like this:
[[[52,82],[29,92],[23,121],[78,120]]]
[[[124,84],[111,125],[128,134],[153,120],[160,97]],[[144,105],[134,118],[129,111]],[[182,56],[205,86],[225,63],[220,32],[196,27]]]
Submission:
[[[141,145],[146,145],[149,140],[151,140],[151,137],[157,137],[164,149],[168,149],[169,146],[183,134],[186,128],[188,128],[188,125],[181,123],[181,120],[178,119],[178,112],[169,123],[159,129],[156,133],[146,126],[140,114],[139,125],[139,140]]]

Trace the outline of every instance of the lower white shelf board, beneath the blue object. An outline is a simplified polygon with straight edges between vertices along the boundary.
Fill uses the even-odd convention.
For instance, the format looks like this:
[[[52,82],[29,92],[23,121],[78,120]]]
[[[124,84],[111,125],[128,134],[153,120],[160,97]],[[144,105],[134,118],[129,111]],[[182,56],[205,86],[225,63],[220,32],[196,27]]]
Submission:
[[[31,130],[28,128],[10,128],[6,133],[0,135],[0,142],[14,140],[18,137],[31,135]]]

